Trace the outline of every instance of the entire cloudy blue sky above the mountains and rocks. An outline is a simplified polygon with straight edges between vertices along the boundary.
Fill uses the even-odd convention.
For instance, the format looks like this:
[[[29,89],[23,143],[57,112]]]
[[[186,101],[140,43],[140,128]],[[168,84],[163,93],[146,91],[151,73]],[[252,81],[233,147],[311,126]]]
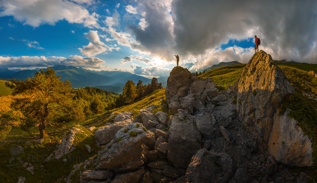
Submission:
[[[168,76],[220,62],[317,63],[316,0],[0,0],[0,68],[54,65]]]

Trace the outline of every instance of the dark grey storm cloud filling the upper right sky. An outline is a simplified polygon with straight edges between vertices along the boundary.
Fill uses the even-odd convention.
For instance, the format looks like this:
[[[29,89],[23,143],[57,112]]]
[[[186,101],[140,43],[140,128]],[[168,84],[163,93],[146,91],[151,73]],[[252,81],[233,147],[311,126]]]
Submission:
[[[181,54],[203,54],[229,39],[254,35],[261,38],[260,48],[279,58],[302,58],[316,50],[315,0],[174,0],[171,9]]]

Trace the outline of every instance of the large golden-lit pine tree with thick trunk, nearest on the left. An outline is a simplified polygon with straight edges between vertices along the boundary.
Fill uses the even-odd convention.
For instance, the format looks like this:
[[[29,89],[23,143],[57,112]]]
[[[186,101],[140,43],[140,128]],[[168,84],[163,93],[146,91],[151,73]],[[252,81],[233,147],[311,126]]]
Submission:
[[[13,99],[11,106],[20,110],[23,115],[23,129],[38,125],[40,138],[47,136],[46,125],[52,112],[71,110],[72,84],[68,79],[60,80],[55,71],[47,68],[37,71],[32,78],[25,80],[12,79],[5,85],[12,89],[12,95],[22,94],[22,98]],[[51,123],[49,123],[51,124]]]

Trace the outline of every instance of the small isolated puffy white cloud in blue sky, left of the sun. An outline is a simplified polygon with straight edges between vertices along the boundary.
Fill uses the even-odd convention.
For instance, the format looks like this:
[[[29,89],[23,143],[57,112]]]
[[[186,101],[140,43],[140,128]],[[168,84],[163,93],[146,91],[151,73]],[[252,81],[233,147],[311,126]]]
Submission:
[[[91,30],[85,33],[85,37],[89,39],[89,44],[78,48],[83,55],[95,56],[97,54],[104,53],[106,51],[112,51],[113,49],[119,50],[119,47],[114,47],[112,45],[108,46],[105,43],[101,42],[98,36],[98,31]]]

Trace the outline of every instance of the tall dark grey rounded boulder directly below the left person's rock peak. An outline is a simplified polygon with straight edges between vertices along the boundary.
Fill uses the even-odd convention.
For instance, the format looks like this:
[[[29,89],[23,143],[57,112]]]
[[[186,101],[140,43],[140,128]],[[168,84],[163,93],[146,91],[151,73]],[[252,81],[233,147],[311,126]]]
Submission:
[[[191,157],[201,149],[201,134],[188,110],[178,110],[170,126],[167,157],[176,168],[186,168]]]

